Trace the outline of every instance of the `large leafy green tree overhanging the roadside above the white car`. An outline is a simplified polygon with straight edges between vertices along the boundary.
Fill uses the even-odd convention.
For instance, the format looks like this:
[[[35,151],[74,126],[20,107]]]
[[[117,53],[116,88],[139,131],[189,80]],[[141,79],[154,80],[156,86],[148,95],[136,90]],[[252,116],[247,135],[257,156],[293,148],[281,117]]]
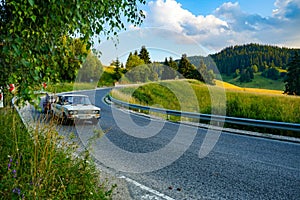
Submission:
[[[62,81],[69,61],[83,62],[86,54],[70,48],[74,36],[89,50],[94,36],[109,38],[124,29],[123,19],[140,25],[144,15],[138,3],[145,0],[1,1],[0,85],[14,83],[17,95],[31,100],[42,82]]]

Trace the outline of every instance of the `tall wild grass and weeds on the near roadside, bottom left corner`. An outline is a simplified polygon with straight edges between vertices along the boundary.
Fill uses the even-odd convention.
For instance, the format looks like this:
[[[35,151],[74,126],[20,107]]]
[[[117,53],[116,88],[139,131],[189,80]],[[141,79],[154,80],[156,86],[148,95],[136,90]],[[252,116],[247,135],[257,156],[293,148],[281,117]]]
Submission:
[[[16,112],[0,110],[1,199],[111,199],[88,152],[74,157],[55,127],[27,131]],[[60,147],[58,147],[58,145]]]

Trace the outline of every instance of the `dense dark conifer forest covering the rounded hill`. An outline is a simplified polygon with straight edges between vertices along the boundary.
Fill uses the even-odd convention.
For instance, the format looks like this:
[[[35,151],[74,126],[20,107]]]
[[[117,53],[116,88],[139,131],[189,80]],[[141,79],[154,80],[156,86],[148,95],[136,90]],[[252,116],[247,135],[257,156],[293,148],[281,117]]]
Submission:
[[[210,57],[221,74],[240,75],[241,82],[249,82],[253,78],[252,74],[257,72],[273,80],[284,77],[287,64],[291,62],[295,52],[300,54],[300,49],[252,43],[227,47],[218,53],[211,54]],[[211,66],[211,64],[207,65]],[[250,79],[243,78],[245,73],[249,73]]]

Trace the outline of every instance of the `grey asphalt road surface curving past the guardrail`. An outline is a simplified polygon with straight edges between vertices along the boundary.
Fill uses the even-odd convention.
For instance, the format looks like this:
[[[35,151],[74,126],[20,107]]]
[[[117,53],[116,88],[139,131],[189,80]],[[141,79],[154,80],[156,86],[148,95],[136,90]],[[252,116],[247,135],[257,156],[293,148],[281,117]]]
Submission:
[[[173,199],[300,199],[300,144],[222,132],[200,158],[214,133],[114,108],[103,102],[108,91],[85,92],[102,109],[97,126],[63,129],[85,145],[103,130],[93,156],[119,176]]]

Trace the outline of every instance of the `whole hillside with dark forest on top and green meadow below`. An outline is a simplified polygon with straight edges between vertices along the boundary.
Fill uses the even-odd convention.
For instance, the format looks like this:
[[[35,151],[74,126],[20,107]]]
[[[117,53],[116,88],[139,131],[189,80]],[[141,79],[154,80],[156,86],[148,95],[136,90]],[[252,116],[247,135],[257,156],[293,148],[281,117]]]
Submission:
[[[286,65],[295,52],[290,49],[260,44],[231,46],[207,57],[191,56],[189,61],[199,66],[203,60],[208,69],[216,68],[224,81],[241,87],[284,90]]]

